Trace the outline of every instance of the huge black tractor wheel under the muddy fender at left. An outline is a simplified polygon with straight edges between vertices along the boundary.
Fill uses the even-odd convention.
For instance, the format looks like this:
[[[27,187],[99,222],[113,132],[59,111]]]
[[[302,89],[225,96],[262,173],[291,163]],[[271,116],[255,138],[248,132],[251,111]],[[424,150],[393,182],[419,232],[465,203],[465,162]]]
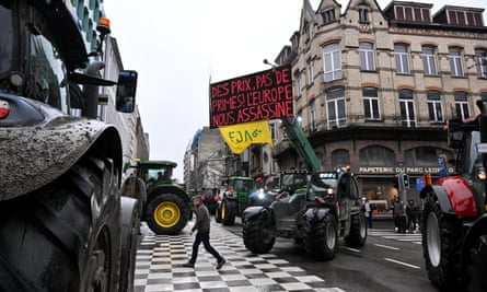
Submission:
[[[85,157],[0,203],[0,291],[116,291],[120,208],[112,170],[112,161]]]

